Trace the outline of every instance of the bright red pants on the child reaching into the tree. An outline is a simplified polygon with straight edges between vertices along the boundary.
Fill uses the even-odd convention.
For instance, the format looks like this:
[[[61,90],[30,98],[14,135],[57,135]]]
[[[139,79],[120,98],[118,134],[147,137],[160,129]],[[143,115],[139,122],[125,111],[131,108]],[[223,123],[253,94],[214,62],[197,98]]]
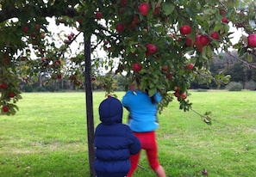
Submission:
[[[158,149],[157,149],[155,131],[134,132],[134,135],[140,139],[141,149],[146,150],[147,161],[149,162],[150,167],[155,171],[157,168],[159,168]],[[140,158],[140,152],[136,155],[130,156],[132,167],[127,177],[131,177],[132,174],[134,173],[135,169],[138,166],[139,158]]]

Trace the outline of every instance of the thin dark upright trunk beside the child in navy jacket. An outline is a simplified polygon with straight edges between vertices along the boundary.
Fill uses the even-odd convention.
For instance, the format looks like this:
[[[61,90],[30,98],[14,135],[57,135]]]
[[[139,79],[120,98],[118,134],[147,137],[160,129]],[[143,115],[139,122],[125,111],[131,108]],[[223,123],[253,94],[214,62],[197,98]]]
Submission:
[[[85,39],[85,36],[84,36]],[[91,38],[84,42],[84,62],[85,62],[85,97],[86,97],[86,116],[87,116],[87,137],[89,150],[89,166],[91,176],[95,176],[93,163],[94,155],[94,120],[93,120],[93,101],[91,86]]]

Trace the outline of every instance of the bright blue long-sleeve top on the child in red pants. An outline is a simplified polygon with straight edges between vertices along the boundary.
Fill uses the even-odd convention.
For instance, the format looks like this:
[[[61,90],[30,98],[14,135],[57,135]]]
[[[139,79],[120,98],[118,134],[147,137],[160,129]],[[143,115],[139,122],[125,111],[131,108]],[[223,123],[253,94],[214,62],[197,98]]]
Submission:
[[[132,131],[154,131],[158,127],[157,107],[162,97],[157,92],[154,99],[156,103],[153,104],[150,97],[140,90],[128,90],[122,97],[122,105],[128,108],[130,113],[131,119],[129,119],[128,125]]]

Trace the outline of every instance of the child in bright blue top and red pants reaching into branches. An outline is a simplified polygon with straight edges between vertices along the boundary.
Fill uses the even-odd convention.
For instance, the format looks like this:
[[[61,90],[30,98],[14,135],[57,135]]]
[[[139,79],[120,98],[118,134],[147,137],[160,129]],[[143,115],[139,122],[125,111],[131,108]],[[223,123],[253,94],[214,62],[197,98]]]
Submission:
[[[137,88],[133,84],[122,98],[122,105],[129,112],[128,125],[134,131],[134,135],[140,139],[141,149],[146,150],[150,167],[159,177],[165,177],[165,170],[158,161],[158,148],[155,130],[158,128],[157,107],[161,101],[161,95],[157,92],[150,97],[140,90],[140,81],[137,80]],[[132,167],[127,175],[131,177],[138,166],[140,153],[130,156]]]

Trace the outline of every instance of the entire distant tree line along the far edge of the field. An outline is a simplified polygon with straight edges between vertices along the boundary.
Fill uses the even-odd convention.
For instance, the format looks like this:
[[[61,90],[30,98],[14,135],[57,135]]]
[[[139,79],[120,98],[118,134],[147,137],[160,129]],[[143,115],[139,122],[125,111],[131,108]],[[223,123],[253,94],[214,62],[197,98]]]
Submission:
[[[222,52],[218,57],[213,59],[213,62],[209,64],[209,71],[213,75],[218,75],[222,72],[224,75],[230,76],[230,84],[239,84],[239,87],[255,90],[256,89],[256,70],[253,70],[250,65],[247,65],[245,58],[240,58],[236,51],[226,53]],[[256,63],[256,58],[253,58],[253,63]],[[83,73],[83,67],[81,67],[81,73]],[[126,79],[119,73],[103,74],[98,71],[96,67],[93,68],[93,73],[97,73],[97,76],[92,76],[92,88],[94,90],[103,90],[104,83],[103,77],[109,77],[112,80],[113,88],[116,91],[125,90]],[[72,82],[70,77],[55,76],[53,78],[52,73],[39,73],[38,76],[31,76],[30,78],[24,77],[20,81],[20,87],[23,92],[45,92],[45,91],[63,91],[63,90],[84,90],[84,82]],[[79,85],[80,84],[80,85]],[[82,86],[82,87],[77,87]],[[215,82],[204,83],[198,78],[191,82],[190,88],[192,89],[217,89],[218,86]],[[221,88],[227,88],[227,84],[222,84]]]

